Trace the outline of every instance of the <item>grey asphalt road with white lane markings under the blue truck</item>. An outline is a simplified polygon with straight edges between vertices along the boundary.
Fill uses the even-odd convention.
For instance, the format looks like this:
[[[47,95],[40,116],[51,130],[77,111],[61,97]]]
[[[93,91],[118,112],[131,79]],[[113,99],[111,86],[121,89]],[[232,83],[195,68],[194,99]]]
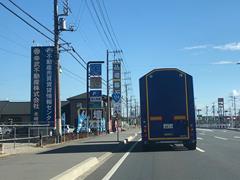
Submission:
[[[138,136],[86,179],[239,180],[240,132],[198,129],[197,136],[195,151],[180,145],[143,151]]]

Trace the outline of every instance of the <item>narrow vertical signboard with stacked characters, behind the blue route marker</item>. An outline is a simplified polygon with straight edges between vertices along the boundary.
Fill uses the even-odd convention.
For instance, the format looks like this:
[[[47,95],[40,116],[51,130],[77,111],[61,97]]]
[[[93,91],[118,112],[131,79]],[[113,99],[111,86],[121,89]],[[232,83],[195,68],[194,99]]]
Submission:
[[[113,62],[113,116],[121,114],[121,62]]]

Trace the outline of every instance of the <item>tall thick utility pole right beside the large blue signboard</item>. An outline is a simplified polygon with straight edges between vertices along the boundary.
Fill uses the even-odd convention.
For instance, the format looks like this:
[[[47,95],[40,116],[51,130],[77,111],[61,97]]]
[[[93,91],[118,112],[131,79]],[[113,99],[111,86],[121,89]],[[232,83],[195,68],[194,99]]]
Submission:
[[[56,104],[56,134],[57,143],[61,140],[62,126],[61,126],[61,101],[60,101],[60,78],[59,78],[59,22],[58,22],[58,0],[54,0],[54,54],[56,67],[56,82],[55,82],[55,104]]]

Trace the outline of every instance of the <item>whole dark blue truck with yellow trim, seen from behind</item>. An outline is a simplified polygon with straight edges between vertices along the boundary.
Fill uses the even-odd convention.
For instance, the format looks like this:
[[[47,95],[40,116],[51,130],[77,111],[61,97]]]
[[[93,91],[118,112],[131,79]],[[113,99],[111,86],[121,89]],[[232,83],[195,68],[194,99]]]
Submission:
[[[183,144],[196,149],[192,76],[176,68],[154,69],[139,80],[142,144]]]

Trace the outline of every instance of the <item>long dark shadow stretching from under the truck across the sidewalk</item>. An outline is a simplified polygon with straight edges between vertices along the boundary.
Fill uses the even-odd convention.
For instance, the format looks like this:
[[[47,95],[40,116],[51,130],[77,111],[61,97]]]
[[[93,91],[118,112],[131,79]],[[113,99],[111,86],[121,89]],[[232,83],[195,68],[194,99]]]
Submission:
[[[64,153],[94,153],[94,152],[112,152],[112,153],[124,153],[128,152],[129,148],[135,142],[130,142],[127,145],[122,142],[116,141],[94,141],[87,142],[79,145],[68,145],[65,147],[60,147],[50,151],[45,151],[39,154],[64,154]],[[176,151],[187,151],[183,146],[167,145],[167,144],[158,144],[156,146],[148,147],[147,149],[142,148],[140,142],[137,143],[135,148],[131,152],[140,153],[140,152],[176,152]]]

